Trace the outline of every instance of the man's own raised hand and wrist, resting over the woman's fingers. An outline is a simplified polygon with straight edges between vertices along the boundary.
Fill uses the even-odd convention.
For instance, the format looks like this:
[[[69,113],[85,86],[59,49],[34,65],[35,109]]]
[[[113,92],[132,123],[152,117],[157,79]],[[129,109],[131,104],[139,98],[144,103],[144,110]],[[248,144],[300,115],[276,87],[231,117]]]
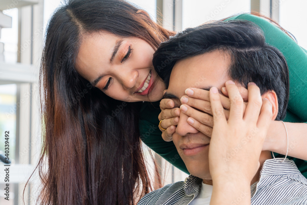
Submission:
[[[214,184],[211,202],[230,203],[244,191],[247,196],[241,203],[250,204],[250,183],[260,166],[259,157],[273,117],[272,104],[262,99],[258,86],[249,83],[249,103],[243,114],[243,98],[237,86],[227,81],[226,87],[231,101],[228,120],[217,89],[211,88],[209,94],[214,121],[209,146]]]

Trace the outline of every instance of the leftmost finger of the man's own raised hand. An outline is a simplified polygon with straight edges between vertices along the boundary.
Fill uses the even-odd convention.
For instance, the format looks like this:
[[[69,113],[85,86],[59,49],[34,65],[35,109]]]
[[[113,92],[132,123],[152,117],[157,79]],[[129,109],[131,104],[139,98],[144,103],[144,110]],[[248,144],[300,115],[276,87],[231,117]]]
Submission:
[[[210,103],[213,115],[213,124],[227,124],[224,108],[220,101],[220,95],[216,87],[210,88]]]

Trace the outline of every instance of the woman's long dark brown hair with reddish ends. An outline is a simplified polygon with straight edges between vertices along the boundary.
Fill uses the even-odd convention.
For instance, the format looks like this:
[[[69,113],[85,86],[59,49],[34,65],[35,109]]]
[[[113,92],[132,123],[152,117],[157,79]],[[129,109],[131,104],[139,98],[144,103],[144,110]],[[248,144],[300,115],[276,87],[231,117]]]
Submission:
[[[138,129],[141,102],[108,97],[74,67],[83,34],[105,30],[153,48],[174,34],[137,11],[122,0],[70,0],[52,15],[40,68],[39,204],[132,205],[151,191]]]

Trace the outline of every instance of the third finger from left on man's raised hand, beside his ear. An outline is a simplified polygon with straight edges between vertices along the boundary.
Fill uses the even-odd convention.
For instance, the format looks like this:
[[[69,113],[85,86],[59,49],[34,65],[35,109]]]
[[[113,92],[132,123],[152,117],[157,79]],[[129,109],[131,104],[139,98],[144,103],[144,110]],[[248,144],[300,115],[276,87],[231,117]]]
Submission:
[[[259,87],[251,82],[248,83],[248,104],[243,119],[257,123],[262,107],[262,97]]]

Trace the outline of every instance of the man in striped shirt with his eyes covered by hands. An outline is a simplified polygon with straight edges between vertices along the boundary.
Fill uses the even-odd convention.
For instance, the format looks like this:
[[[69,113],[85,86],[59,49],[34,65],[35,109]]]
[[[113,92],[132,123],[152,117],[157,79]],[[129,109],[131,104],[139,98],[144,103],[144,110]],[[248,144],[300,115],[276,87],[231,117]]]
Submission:
[[[153,65],[168,88],[164,97],[173,99],[175,107],[181,106],[180,99],[189,87],[210,89],[211,95],[214,90],[213,86],[221,89],[226,82],[228,93],[232,93],[228,88],[233,89],[231,87],[234,86],[233,81],[236,85],[245,87],[249,82],[254,82],[260,89],[261,97],[266,98],[272,104],[270,107],[273,114],[272,120],[282,120],[285,117],[289,98],[289,73],[286,60],[278,49],[265,43],[262,31],[250,22],[212,22],[186,29],[161,44],[154,54]],[[200,81],[199,79],[203,77],[205,80]],[[255,84],[249,84],[249,92],[255,90]],[[213,112],[212,96],[210,96],[210,101]],[[230,94],[230,97],[231,99],[239,98],[233,94]],[[249,101],[245,112],[253,112],[250,106],[252,103],[254,102]],[[233,104],[232,108],[235,108],[236,105]],[[259,116],[260,108],[256,107],[254,114]],[[241,111],[239,111],[240,109]],[[242,107],[240,109],[237,109],[238,112],[242,112]],[[236,116],[234,113],[230,115],[232,120]],[[244,115],[244,117],[247,116]],[[262,111],[259,119],[261,117]],[[213,112],[213,118],[216,120],[219,115]],[[219,166],[214,164],[215,161],[212,160],[214,156],[211,155],[210,160],[209,155],[214,153],[212,152],[213,141],[216,141],[219,132],[223,135],[227,135],[227,132],[223,131],[221,126],[220,130],[215,129],[219,123],[216,120],[211,139],[188,124],[187,119],[188,116],[181,108],[176,132],[173,134],[173,142],[191,174],[184,182],[169,184],[145,195],[138,204],[209,204],[211,195],[213,196],[212,193],[216,193],[214,187],[226,190],[226,194],[227,187],[231,184],[228,182],[231,182],[232,177],[229,181],[227,177],[223,178],[223,176],[227,176],[227,173],[222,173],[224,170],[217,170],[216,168]],[[238,125],[233,124],[233,126]],[[241,130],[230,131],[235,133],[244,132],[244,130],[245,126],[242,126]],[[232,149],[234,154],[231,154],[234,159],[240,160],[238,156],[241,151],[247,150],[244,146],[251,144],[252,140],[253,143],[262,140],[262,138],[258,138],[257,132],[258,130],[254,130],[245,137],[243,136],[241,140],[236,141],[237,146]],[[230,135],[228,139],[225,138],[229,140],[228,143],[231,143],[231,137]],[[233,140],[237,140],[236,137]],[[223,144],[223,140],[220,144]],[[218,149],[218,147],[214,147],[214,149]],[[220,152],[223,150],[220,149]],[[253,157],[253,150],[247,150],[246,153],[249,155],[242,155],[242,160]],[[234,163],[234,159],[228,158],[227,154],[229,155],[227,152],[224,153],[224,164]],[[262,151],[260,156],[256,154],[256,157],[260,162],[261,170],[258,169],[256,174],[253,173],[249,178],[248,186],[251,185],[248,187],[249,191],[238,189],[234,193],[240,193],[239,195],[229,196],[231,205],[249,203],[307,204],[307,180],[301,175],[292,160],[286,159],[280,163],[272,159],[269,151]],[[219,159],[215,158],[215,160]],[[228,171],[225,170],[224,172]],[[244,173],[244,171],[238,172]],[[223,187],[223,183],[215,181],[219,177],[223,180],[226,179],[226,188]],[[212,186],[212,179],[214,186]],[[242,181],[245,179],[247,179],[245,175],[242,175]],[[240,181],[240,174],[239,177],[233,179],[233,183],[236,184],[237,181]],[[229,186],[230,193],[231,189],[237,189],[237,187]],[[216,201],[218,200],[214,202]]]

